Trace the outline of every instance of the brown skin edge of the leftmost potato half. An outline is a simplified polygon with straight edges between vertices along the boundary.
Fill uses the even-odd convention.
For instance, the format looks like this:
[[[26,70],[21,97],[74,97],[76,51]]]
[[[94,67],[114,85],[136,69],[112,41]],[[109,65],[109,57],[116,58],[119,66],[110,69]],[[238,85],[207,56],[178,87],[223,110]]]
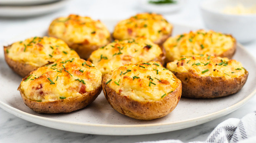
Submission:
[[[6,49],[10,48],[11,45],[9,46],[4,46],[4,53],[5,53],[5,61],[7,62],[7,64],[9,65],[9,67],[16,72],[18,75],[20,75],[21,77],[25,77],[26,75],[28,75],[31,71],[36,70],[37,66],[33,66],[33,65],[29,65],[23,62],[18,62],[18,61],[14,61],[12,60],[7,52]]]

